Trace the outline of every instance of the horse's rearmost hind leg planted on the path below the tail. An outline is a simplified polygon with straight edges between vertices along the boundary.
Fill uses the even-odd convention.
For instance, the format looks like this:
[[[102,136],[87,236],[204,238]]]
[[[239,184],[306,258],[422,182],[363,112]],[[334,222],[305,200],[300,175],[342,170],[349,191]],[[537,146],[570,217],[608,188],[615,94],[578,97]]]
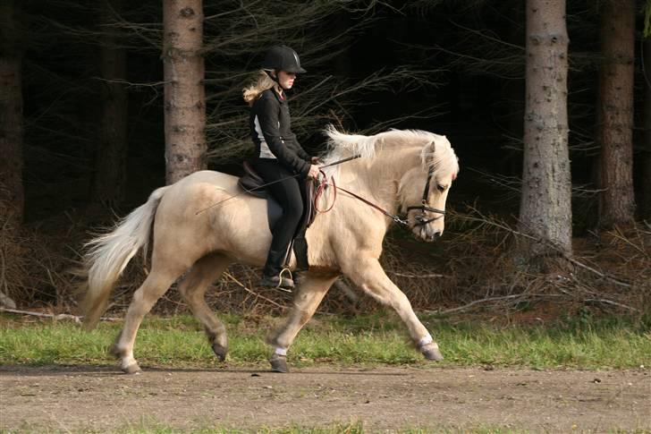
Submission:
[[[135,374],[140,371],[138,362],[133,357],[133,344],[142,319],[184,270],[153,260],[148,277],[133,294],[123,330],[111,349],[111,353],[120,358],[120,367],[125,373]]]

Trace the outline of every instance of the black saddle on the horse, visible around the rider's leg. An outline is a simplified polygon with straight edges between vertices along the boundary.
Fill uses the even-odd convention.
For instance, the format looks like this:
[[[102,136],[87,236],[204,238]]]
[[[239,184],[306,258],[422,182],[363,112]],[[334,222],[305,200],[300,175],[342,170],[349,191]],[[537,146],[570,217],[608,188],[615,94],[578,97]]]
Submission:
[[[274,196],[269,194],[266,190],[266,183],[262,177],[256,173],[255,169],[245,161],[242,164],[244,174],[238,180],[237,184],[240,188],[260,199],[266,200],[266,218],[269,225],[269,230],[274,231],[275,225],[283,217],[283,208],[274,199]],[[300,218],[299,226],[296,228],[292,243],[287,251],[287,258],[285,263],[289,263],[292,251],[296,255],[296,265],[299,269],[308,269],[308,242],[305,239],[305,233],[309,226],[314,222],[317,217],[314,206],[314,183],[309,180],[300,183],[301,193],[303,198],[303,217]]]

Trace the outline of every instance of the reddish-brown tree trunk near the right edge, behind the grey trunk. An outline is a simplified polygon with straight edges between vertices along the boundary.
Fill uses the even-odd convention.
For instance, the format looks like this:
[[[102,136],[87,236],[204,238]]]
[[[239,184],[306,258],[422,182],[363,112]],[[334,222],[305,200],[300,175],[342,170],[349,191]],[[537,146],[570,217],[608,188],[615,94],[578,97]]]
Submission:
[[[601,13],[603,63],[599,70],[596,141],[599,167],[599,226],[634,219],[633,64],[635,0],[604,0]]]

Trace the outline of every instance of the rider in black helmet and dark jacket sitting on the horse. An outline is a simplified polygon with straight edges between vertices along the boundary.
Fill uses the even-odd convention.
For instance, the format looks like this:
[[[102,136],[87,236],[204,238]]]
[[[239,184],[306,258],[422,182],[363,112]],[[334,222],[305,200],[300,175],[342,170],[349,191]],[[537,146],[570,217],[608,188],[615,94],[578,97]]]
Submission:
[[[249,127],[256,154],[251,165],[267,190],[283,208],[283,217],[275,225],[273,239],[263,269],[261,286],[292,288],[292,278],[281,275],[283,260],[303,214],[300,182],[317,178],[317,157],[310,157],[300,147],[290,124],[286,90],[292,89],[296,75],[306,72],[299,56],[290,47],[270,48],[262,63],[258,80],[243,89],[249,103]]]

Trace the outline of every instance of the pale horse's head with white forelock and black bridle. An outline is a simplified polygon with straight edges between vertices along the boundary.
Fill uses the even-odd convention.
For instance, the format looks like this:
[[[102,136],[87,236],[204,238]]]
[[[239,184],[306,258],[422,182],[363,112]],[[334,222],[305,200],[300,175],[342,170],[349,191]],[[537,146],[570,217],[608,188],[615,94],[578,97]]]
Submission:
[[[403,211],[411,232],[432,242],[443,234],[445,201],[459,163],[445,136],[431,134],[431,141],[420,153],[420,164],[408,170],[400,180]]]

